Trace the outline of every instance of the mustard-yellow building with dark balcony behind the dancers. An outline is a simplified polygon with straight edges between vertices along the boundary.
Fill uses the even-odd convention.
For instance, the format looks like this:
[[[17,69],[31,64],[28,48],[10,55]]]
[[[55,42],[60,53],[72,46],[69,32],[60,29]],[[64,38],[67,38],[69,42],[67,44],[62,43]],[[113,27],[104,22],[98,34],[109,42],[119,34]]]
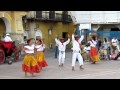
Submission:
[[[42,37],[47,48],[55,46],[55,36],[67,38],[76,27],[68,11],[30,11],[23,17],[24,38]]]

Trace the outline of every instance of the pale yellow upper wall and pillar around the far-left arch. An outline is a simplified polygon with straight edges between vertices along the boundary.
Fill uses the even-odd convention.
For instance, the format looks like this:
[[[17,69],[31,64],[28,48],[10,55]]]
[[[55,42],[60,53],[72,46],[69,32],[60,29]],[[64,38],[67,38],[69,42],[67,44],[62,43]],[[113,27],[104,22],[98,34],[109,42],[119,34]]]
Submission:
[[[23,33],[22,16],[26,14],[24,11],[1,11],[0,18],[8,20],[11,33]]]

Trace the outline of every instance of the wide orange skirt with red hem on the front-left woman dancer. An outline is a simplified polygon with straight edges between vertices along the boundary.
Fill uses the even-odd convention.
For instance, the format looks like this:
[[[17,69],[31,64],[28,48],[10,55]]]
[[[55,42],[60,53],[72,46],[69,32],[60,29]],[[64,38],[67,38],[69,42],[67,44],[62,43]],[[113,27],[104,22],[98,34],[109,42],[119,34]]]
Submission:
[[[23,72],[29,72],[31,74],[39,73],[41,71],[33,55],[26,55],[24,57],[23,64],[22,64],[22,70]]]

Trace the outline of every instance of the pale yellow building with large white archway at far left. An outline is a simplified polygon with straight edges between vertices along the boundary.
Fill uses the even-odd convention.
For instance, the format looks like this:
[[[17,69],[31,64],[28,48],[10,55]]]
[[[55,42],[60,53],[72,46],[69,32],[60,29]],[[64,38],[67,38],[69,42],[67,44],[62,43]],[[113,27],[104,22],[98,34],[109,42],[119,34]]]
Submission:
[[[11,34],[12,40],[23,40],[23,22],[22,17],[25,11],[0,11],[0,36],[4,38],[6,33]]]

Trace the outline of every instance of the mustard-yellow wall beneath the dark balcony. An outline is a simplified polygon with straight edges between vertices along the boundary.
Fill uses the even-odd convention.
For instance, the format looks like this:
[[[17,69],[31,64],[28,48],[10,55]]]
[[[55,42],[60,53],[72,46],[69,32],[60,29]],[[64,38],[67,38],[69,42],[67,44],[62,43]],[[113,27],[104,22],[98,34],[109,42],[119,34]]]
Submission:
[[[62,38],[62,32],[68,32],[70,36],[72,35],[75,26],[73,23],[62,23],[58,22],[53,25],[52,35],[48,34],[48,29],[50,29],[51,23],[46,22],[36,22],[39,25],[39,29],[42,31],[44,43],[47,48],[49,48],[50,43],[55,47],[55,36],[58,35],[59,38]]]

